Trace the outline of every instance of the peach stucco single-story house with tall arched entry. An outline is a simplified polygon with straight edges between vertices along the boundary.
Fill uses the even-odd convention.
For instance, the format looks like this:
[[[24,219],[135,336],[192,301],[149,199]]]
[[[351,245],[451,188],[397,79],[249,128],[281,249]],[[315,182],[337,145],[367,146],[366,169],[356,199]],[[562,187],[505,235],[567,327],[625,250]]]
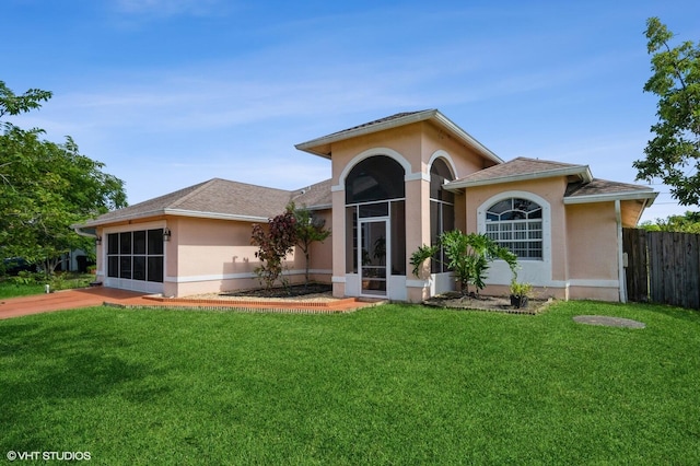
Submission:
[[[438,261],[415,277],[410,255],[443,231],[487,233],[520,258],[518,278],[558,299],[625,301],[622,228],[656,193],[594,178],[587,165],[518,158],[504,162],[439,110],[401,113],[298,144],[331,161],[331,178],[288,191],[211,179],[116,210],[78,229],[97,238],[106,287],[167,296],[259,286],[250,245],[294,201],[332,235],[312,251],[312,278],[336,296],[418,302],[451,290]],[[288,258],[302,280],[301,254]],[[508,294],[497,261],[491,294]]]

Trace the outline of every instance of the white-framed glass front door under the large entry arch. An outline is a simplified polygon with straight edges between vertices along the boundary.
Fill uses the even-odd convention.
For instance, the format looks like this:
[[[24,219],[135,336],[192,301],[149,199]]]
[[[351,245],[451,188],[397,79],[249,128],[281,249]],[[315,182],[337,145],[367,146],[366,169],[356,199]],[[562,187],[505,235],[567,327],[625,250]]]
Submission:
[[[387,220],[360,220],[360,264],[362,294],[387,295]]]

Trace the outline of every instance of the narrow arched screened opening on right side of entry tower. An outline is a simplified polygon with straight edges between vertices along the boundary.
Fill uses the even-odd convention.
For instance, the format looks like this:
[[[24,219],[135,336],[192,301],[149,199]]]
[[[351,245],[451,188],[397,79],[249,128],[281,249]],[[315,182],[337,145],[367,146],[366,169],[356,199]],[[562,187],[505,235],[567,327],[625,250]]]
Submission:
[[[430,167],[430,236],[433,245],[439,244],[443,232],[455,229],[455,195],[443,187],[445,182],[452,179],[454,177],[445,161],[435,159]],[[431,261],[431,271],[446,272],[447,260],[442,248],[434,259]]]

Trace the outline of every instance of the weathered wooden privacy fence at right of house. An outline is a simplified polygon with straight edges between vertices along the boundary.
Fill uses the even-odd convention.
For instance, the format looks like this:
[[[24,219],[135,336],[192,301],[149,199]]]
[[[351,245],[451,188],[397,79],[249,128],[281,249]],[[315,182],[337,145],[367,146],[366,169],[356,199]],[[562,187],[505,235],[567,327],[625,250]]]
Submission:
[[[622,230],[627,296],[700,308],[700,234]]]

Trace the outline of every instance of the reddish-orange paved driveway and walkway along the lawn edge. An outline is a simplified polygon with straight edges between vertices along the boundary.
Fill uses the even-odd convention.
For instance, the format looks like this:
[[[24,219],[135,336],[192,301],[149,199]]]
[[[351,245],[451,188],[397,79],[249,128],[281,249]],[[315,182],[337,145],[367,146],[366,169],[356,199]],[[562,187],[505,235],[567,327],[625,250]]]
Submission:
[[[112,305],[119,307],[187,307],[208,310],[242,310],[249,312],[287,312],[287,313],[338,313],[352,312],[359,307],[377,304],[378,301],[360,301],[354,298],[334,300],[331,302],[302,301],[233,301],[233,300],[192,300],[167,299],[133,291],[114,288],[85,288],[57,291],[48,294],[10,298],[0,300],[0,319],[44,312],[73,310]]]

